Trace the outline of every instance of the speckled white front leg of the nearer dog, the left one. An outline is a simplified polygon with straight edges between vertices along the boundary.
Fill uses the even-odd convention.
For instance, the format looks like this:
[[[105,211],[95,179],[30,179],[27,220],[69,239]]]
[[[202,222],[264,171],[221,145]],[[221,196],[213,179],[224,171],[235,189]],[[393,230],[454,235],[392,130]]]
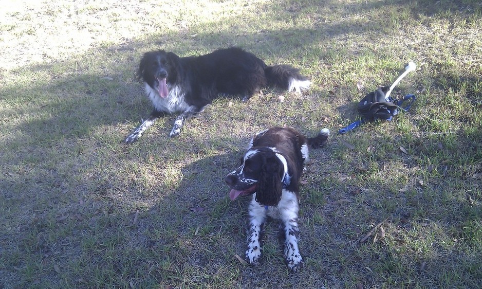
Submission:
[[[259,263],[259,258],[261,258],[263,252],[261,234],[265,220],[266,209],[264,206],[260,206],[253,196],[249,205],[248,248],[245,256],[246,261],[251,265]]]

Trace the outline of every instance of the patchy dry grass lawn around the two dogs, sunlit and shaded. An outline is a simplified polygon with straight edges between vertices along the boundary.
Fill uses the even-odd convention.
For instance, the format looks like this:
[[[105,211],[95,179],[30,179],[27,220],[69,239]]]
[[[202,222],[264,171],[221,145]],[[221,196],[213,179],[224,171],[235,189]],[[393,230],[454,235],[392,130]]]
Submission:
[[[15,1],[0,11],[0,288],[476,288],[482,284],[482,5],[476,0]],[[301,68],[302,95],[220,98],[168,138],[143,52],[238,46]],[[418,68],[407,113],[337,134]],[[285,101],[279,102],[279,96]],[[290,274],[223,177],[271,126],[329,128],[302,177]]]

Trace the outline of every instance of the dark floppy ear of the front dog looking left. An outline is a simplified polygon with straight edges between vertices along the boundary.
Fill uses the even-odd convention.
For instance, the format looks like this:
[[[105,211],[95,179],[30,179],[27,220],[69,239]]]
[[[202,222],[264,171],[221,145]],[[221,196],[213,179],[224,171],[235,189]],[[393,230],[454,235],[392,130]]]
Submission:
[[[266,206],[276,206],[283,193],[282,175],[284,167],[273,153],[263,159],[261,173],[256,186],[256,202]]]

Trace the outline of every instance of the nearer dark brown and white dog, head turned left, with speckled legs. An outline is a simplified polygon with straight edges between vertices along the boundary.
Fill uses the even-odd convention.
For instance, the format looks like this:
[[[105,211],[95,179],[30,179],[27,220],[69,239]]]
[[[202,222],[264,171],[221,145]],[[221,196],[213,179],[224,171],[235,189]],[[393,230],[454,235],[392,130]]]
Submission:
[[[246,260],[257,265],[262,255],[261,234],[266,217],[280,219],[284,230],[284,255],[288,267],[303,267],[298,248],[299,181],[308,160],[308,148],[324,146],[329,130],[306,138],[290,128],[271,128],[258,133],[249,143],[243,164],[225,178],[229,196],[252,194],[249,205]]]

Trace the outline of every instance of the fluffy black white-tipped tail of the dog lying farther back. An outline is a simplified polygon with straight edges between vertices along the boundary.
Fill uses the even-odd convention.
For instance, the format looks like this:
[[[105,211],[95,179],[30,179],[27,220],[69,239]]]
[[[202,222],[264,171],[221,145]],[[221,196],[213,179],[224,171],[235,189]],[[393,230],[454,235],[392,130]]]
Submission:
[[[288,92],[301,93],[311,85],[311,81],[302,76],[299,69],[290,65],[268,66],[265,68],[265,75],[269,86],[276,86]]]

